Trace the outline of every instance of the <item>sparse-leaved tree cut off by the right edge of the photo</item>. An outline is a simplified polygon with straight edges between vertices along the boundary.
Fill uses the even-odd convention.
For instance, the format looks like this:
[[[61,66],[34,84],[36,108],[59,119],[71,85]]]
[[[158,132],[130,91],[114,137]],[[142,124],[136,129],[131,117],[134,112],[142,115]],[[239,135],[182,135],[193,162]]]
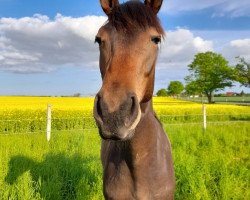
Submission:
[[[235,66],[235,80],[245,87],[250,87],[250,63],[243,57],[236,57],[238,64]]]

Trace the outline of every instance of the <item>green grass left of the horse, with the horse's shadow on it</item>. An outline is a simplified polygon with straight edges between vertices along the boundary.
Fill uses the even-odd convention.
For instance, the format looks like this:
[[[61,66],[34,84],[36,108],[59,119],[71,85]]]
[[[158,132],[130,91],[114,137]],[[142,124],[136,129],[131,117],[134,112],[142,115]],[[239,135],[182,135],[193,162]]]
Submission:
[[[97,131],[0,136],[0,199],[102,199]]]

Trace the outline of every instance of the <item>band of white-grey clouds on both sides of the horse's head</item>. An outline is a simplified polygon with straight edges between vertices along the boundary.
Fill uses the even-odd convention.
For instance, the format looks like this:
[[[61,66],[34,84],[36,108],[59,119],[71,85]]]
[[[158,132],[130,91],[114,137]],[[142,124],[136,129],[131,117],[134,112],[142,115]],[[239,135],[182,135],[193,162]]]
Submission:
[[[41,15],[1,18],[0,70],[32,73],[65,66],[98,66],[98,47],[93,42],[105,21],[106,17],[71,18],[59,14],[54,20]],[[230,39],[232,35],[234,39]],[[231,63],[236,56],[248,59],[250,39],[246,35],[249,34],[241,37],[237,31],[213,34],[187,29],[169,31],[161,46],[157,69],[169,72],[168,77],[183,78],[194,55],[205,51],[222,53]]]

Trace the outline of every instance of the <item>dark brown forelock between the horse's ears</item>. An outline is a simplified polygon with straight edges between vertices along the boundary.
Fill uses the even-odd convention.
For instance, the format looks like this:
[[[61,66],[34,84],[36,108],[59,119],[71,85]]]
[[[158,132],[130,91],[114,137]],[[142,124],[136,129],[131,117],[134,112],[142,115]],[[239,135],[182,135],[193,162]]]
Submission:
[[[129,35],[154,27],[159,34],[164,36],[159,18],[151,8],[140,1],[128,1],[114,7],[109,15],[109,22],[117,31]]]

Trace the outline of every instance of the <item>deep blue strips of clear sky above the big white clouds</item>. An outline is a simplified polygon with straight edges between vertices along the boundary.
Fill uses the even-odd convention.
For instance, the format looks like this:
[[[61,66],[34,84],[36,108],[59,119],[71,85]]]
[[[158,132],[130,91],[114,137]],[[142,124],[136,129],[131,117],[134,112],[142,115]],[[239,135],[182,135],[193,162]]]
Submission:
[[[164,4],[167,6],[167,3]],[[194,6],[193,9],[190,8],[177,13],[161,12],[160,18],[167,29],[175,29],[176,27],[199,30],[250,29],[250,12],[237,17],[232,17],[229,13],[225,16],[213,17],[215,13],[218,13],[218,15],[223,13],[223,10],[218,9],[217,6],[215,4],[203,9],[195,9]],[[99,0],[0,0],[0,17],[21,18],[33,16],[37,13],[52,19],[57,13],[72,17],[103,15]]]

